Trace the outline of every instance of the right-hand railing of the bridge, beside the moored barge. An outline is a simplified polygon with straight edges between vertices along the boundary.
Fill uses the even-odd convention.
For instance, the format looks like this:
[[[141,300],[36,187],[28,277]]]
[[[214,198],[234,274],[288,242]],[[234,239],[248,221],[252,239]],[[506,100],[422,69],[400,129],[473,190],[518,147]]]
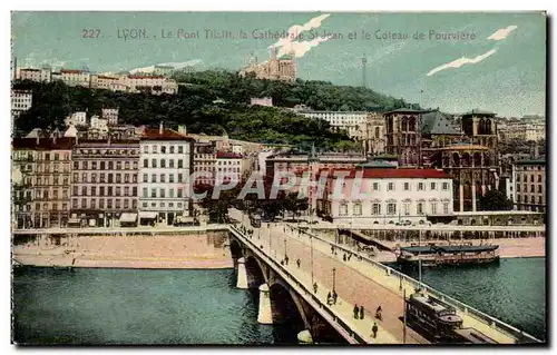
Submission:
[[[514,327],[514,326],[511,326],[502,321],[499,321],[499,319],[497,319],[497,318],[495,318],[495,317],[492,317],[492,316],[490,316],[490,315],[488,315],[479,309],[470,307],[469,305],[467,305],[467,304],[465,304],[456,298],[452,298],[452,297],[432,288],[429,285],[426,285],[423,283],[421,283],[421,285],[420,285],[420,283],[417,279],[409,277],[409,276],[393,269],[392,267],[389,267],[387,265],[378,263],[378,262],[369,258],[368,256],[365,256],[361,253],[355,253],[354,250],[349,249],[343,245],[333,243],[333,241],[328,240],[325,238],[322,238],[315,234],[311,234],[307,230],[299,228],[296,226],[290,226],[290,228],[297,229],[300,233],[303,233],[307,236],[311,236],[312,238],[319,239],[319,240],[324,241],[324,243],[330,244],[330,245],[334,245],[335,248],[342,249],[349,254],[352,254],[356,257],[360,257],[361,259],[364,259],[368,263],[370,263],[371,265],[373,265],[375,268],[383,270],[385,273],[385,275],[398,277],[399,279],[402,279],[403,282],[412,285],[416,289],[423,288],[433,297],[437,297],[437,298],[448,303],[449,305],[453,306],[455,308],[459,309],[460,312],[465,313],[466,315],[473,317],[483,324],[489,325],[494,329],[497,329],[501,333],[507,334],[508,336],[517,339],[518,342],[521,342],[521,343],[522,342],[541,343],[541,341],[539,341],[538,338],[536,338],[536,337],[534,337],[534,336],[531,336],[531,335],[529,335],[529,334],[527,334],[527,333],[525,333],[525,332],[522,332],[522,331],[520,331],[520,329],[518,329],[518,328],[516,328],[516,327]]]

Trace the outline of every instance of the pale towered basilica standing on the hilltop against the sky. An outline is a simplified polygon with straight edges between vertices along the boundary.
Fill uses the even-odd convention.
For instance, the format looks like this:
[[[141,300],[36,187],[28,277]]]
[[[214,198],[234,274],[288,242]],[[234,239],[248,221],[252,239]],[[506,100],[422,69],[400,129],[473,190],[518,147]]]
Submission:
[[[255,59],[240,72],[240,76],[244,77],[251,72],[255,73],[257,79],[294,81],[296,80],[295,56],[290,53],[276,58],[276,48],[273,47],[267,61],[257,63]]]

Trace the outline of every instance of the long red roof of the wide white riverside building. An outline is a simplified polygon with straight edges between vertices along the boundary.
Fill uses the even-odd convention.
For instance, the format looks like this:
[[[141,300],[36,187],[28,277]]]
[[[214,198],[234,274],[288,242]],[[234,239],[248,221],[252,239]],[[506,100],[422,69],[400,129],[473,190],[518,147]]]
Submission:
[[[353,179],[356,177],[356,171],[363,171],[362,178],[368,179],[451,179],[449,174],[437,169],[410,169],[410,168],[373,168],[373,169],[330,169],[329,176],[334,178],[334,174],[339,171],[349,172],[344,178]],[[322,171],[320,171],[321,174]]]

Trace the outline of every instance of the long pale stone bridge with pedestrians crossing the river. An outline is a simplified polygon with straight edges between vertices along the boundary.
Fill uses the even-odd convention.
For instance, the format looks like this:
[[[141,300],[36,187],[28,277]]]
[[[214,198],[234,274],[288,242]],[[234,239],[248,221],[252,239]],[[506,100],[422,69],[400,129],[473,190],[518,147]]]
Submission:
[[[237,210],[235,214],[238,220],[245,219],[240,225],[231,226],[231,248],[238,258],[237,287],[260,288],[260,323],[273,323],[273,292],[282,288],[293,299],[305,331],[310,333],[313,332],[312,319],[316,314],[350,344],[427,344],[430,338],[403,322],[404,297],[422,288],[455,306],[465,327],[473,327],[500,344],[539,342],[352,248],[295,225],[263,224],[254,228],[248,225],[248,218]],[[260,285],[248,282],[248,272],[254,269],[263,276]],[[333,290],[338,300],[330,305],[328,295]],[[363,306],[363,319],[354,318],[354,305]],[[378,306],[383,310],[381,321],[373,317]],[[374,322],[379,327],[377,338],[371,334]]]

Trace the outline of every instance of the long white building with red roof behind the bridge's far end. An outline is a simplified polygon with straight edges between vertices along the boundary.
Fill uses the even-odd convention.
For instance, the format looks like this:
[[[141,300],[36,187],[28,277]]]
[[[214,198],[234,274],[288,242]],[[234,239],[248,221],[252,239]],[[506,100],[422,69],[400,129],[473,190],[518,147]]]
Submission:
[[[437,169],[335,169],[328,172],[317,210],[352,225],[424,223],[453,215],[452,177]],[[339,183],[338,174],[345,174]],[[360,181],[358,174],[362,174]],[[317,177],[319,180],[320,177]],[[360,186],[359,186],[360,185]]]

